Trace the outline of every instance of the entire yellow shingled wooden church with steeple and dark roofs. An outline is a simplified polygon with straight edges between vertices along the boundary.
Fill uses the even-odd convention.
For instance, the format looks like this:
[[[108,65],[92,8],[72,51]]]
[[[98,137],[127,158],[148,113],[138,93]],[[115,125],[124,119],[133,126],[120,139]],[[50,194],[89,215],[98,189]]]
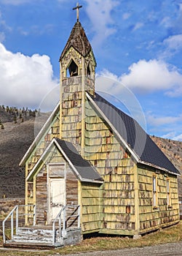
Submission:
[[[77,17],[60,55],[60,102],[20,162],[25,225],[36,216],[34,225],[48,227],[60,216],[66,230],[71,207],[82,235],[138,236],[177,223],[178,170],[137,121],[95,92],[95,67]]]

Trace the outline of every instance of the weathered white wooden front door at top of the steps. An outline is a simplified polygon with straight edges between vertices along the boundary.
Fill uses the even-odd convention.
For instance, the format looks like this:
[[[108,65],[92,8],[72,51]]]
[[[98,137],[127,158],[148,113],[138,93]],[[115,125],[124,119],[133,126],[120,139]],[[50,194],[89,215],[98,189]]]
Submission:
[[[65,179],[50,178],[50,222],[57,217],[61,207],[65,205],[65,194]]]

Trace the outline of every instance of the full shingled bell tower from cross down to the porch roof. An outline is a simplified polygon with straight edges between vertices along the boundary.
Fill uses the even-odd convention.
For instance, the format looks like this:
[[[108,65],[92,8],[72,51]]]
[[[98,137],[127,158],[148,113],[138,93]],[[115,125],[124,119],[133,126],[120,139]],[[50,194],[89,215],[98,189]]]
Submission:
[[[96,61],[89,40],[79,22],[76,23],[60,55],[60,138],[70,140],[77,150],[84,150],[84,109],[87,91],[95,95]]]

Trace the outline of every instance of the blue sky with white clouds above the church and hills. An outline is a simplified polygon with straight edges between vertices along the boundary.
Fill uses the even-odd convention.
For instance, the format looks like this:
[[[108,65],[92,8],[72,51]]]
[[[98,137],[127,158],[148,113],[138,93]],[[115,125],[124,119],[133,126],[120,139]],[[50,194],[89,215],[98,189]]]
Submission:
[[[141,115],[150,135],[182,140],[182,0],[79,4],[102,78],[96,89]],[[50,92],[47,105],[58,102],[58,60],[75,6],[73,0],[0,0],[0,105],[39,108]]]

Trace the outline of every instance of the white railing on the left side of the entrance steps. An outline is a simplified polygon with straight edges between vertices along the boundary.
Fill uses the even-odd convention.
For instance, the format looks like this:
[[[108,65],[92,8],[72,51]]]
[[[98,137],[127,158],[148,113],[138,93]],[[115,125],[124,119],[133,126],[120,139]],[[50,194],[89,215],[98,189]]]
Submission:
[[[30,214],[25,214],[25,213],[19,213],[19,208],[22,207],[33,207],[33,213]],[[11,223],[11,240],[14,238],[14,221],[15,221],[15,228],[16,228],[16,235],[18,232],[18,226],[19,226],[19,218],[21,216],[33,216],[33,225],[36,225],[36,205],[22,205],[22,206],[15,206],[12,211],[9,212],[7,217],[4,219],[2,222],[2,227],[3,227],[3,242],[6,244],[6,233],[5,233],[5,227],[6,227],[6,222],[10,218],[10,223]],[[14,218],[15,217],[15,218]]]

